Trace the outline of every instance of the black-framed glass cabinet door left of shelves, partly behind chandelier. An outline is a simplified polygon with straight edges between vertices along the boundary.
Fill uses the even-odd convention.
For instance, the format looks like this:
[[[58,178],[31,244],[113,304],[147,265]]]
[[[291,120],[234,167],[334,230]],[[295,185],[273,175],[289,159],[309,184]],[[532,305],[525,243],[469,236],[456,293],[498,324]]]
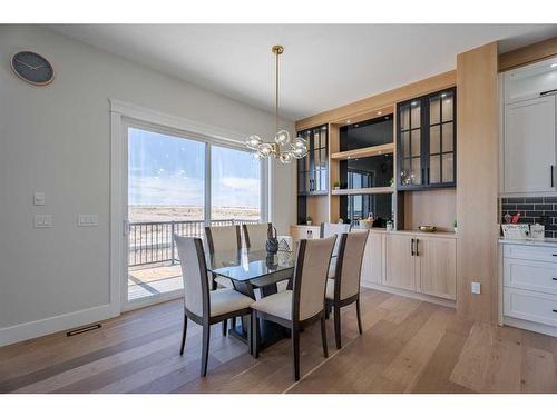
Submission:
[[[320,126],[297,132],[307,141],[307,156],[297,160],[297,193],[300,196],[328,192],[329,138],[328,128]]]

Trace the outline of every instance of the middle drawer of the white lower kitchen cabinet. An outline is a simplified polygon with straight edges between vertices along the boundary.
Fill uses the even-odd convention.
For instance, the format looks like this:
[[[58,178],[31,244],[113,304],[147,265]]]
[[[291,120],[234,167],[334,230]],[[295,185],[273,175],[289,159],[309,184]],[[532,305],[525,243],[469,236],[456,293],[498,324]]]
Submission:
[[[557,295],[557,264],[505,258],[504,285]]]

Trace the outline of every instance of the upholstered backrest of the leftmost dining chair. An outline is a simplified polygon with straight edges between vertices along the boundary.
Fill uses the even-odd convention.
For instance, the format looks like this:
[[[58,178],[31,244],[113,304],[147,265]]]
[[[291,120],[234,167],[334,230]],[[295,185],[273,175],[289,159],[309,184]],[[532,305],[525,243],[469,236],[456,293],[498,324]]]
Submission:
[[[182,278],[184,279],[184,302],[186,309],[199,317],[211,316],[207,265],[199,238],[174,235],[178,248]]]

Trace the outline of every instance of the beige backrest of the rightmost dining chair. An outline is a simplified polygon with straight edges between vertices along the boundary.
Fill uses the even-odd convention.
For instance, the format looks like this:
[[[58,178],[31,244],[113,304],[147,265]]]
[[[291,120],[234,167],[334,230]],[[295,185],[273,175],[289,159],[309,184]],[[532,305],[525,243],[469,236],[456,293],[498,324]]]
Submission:
[[[360,275],[368,235],[368,230],[341,235],[334,280],[335,299],[344,300],[360,292]]]

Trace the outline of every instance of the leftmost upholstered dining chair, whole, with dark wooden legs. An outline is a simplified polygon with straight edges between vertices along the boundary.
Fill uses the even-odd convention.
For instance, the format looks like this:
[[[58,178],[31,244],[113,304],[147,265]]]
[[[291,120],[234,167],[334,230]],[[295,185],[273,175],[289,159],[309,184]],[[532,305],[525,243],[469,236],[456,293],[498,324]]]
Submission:
[[[187,334],[187,320],[203,326],[203,351],[201,376],[207,375],[211,326],[223,322],[236,316],[250,315],[253,299],[235,291],[223,288],[209,291],[207,266],[203,251],[202,239],[174,236],[182,266],[184,279],[184,330],[182,332],[180,355],[184,355]],[[252,326],[250,326],[252,327]],[[251,342],[251,329],[248,340]],[[251,351],[251,346],[248,347]]]

